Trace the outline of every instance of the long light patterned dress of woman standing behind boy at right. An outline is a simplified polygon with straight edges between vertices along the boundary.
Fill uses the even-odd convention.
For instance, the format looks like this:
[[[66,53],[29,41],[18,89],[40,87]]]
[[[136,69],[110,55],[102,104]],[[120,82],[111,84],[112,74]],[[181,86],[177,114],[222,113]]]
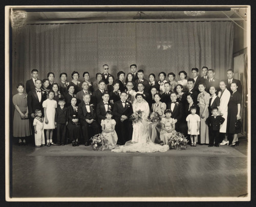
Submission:
[[[201,144],[209,144],[209,133],[208,133],[208,126],[206,125],[205,121],[209,116],[209,110],[206,109],[205,111],[205,116],[202,119],[202,113],[205,108],[205,105],[209,105],[209,99],[210,99],[210,94],[207,93],[206,91],[203,91],[198,94],[197,101],[199,102],[199,108],[200,108],[200,143]]]

